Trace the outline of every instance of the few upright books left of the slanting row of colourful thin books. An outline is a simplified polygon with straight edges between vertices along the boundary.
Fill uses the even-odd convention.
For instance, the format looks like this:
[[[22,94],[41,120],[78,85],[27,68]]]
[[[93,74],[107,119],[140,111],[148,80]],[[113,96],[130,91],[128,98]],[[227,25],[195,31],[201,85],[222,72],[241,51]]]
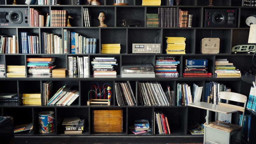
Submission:
[[[47,105],[49,97],[52,96],[52,89],[53,89],[52,81],[47,81],[47,82],[43,83],[43,96],[44,96],[43,103],[44,103],[44,105]]]

